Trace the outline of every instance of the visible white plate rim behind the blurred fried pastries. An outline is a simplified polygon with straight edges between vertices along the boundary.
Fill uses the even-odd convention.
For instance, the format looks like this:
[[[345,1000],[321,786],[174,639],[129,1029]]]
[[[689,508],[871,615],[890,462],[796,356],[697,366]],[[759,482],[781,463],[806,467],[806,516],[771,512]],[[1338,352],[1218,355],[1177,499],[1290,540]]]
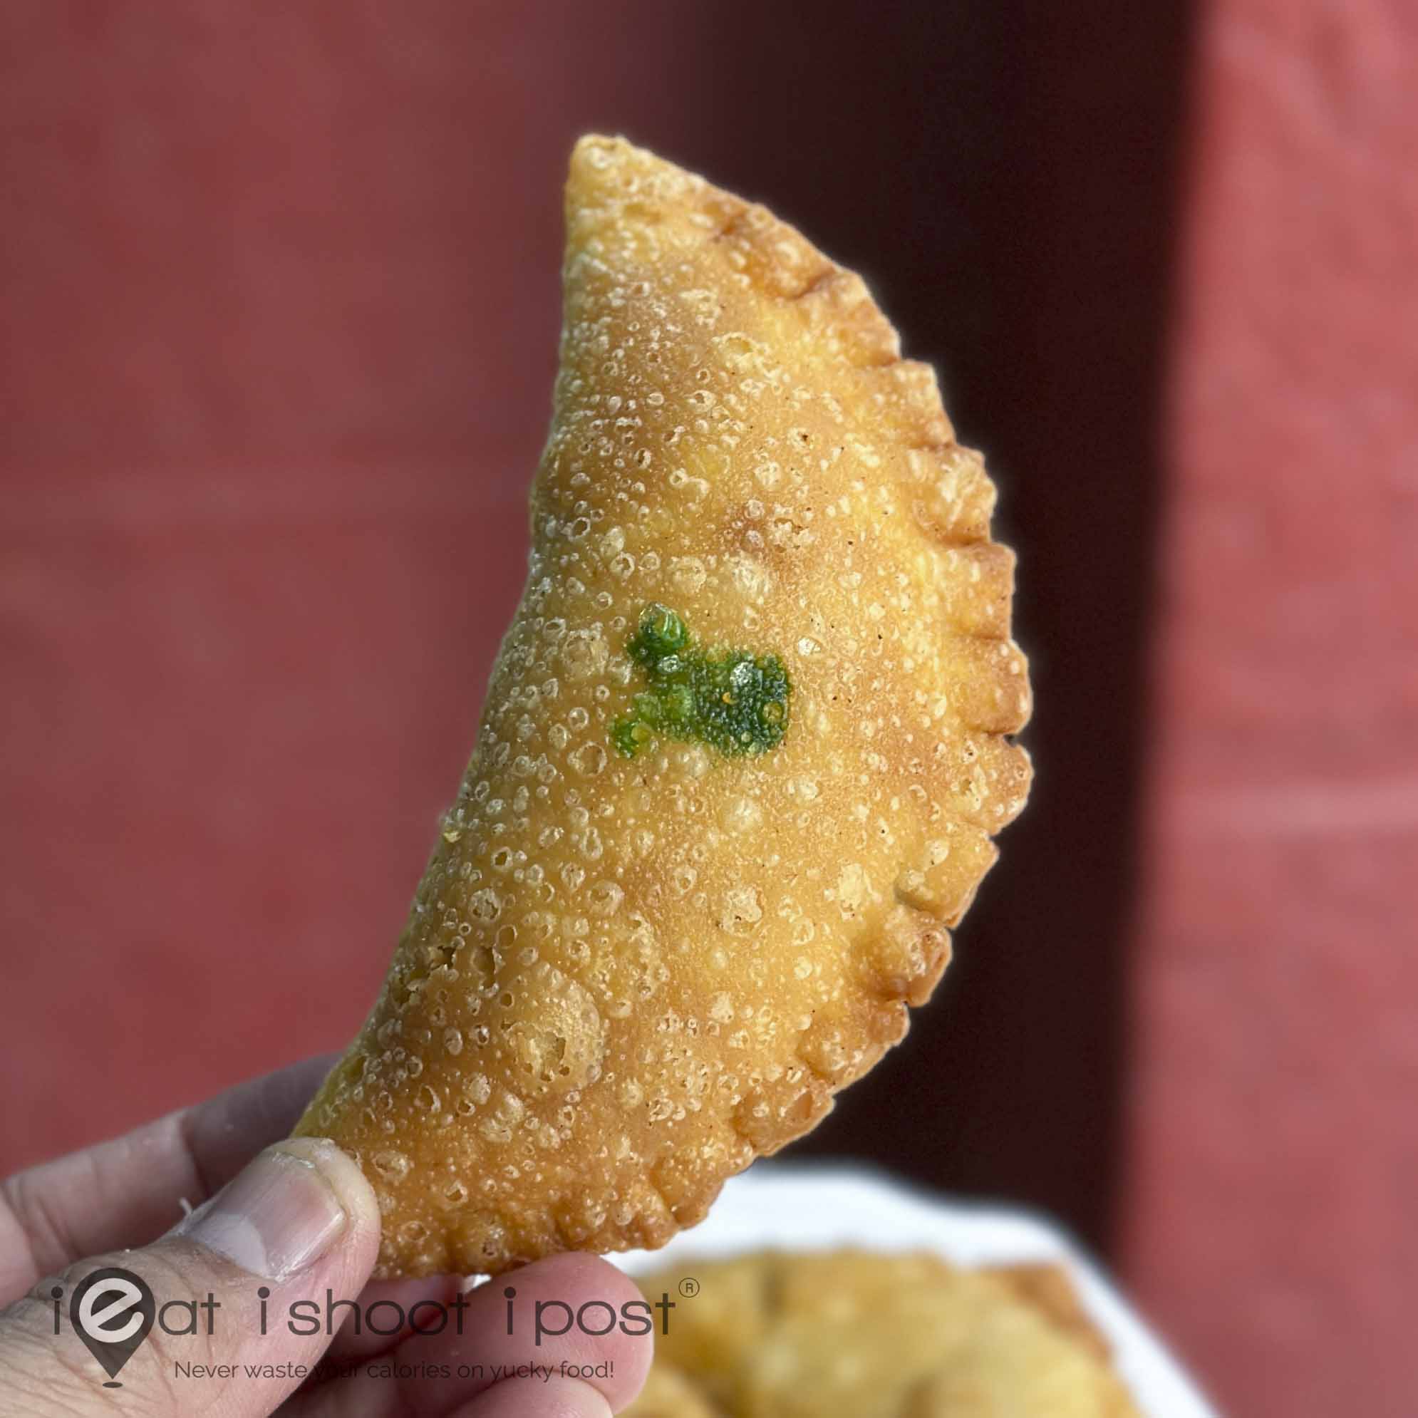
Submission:
[[[759,1163],[732,1178],[709,1219],[662,1251],[608,1256],[632,1275],[696,1256],[777,1246],[859,1245],[936,1251],[959,1265],[1056,1261],[1113,1346],[1113,1360],[1147,1418],[1218,1418],[1167,1347],[1058,1225],[1032,1212],[949,1201],[882,1173],[854,1167]]]

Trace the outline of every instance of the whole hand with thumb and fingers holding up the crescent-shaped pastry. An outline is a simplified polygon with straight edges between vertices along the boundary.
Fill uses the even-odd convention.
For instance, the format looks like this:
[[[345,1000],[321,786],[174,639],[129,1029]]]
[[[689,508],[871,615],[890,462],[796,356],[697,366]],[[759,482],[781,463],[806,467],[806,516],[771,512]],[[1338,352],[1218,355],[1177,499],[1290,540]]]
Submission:
[[[608,1418],[635,1397],[652,1341],[627,1333],[638,1323],[591,1333],[640,1300],[597,1256],[539,1261],[467,1296],[451,1276],[366,1285],[379,1251],[369,1183],[333,1143],[278,1141],[329,1062],[241,1085],[4,1183],[0,1408],[9,1418]],[[201,1204],[160,1235],[179,1198]],[[130,1245],[140,1249],[121,1249]],[[139,1276],[157,1306],[157,1323],[116,1375],[121,1387],[105,1385],[69,1314],[84,1278],[102,1266]],[[354,1296],[357,1312],[333,1312],[332,1337],[329,1299]],[[291,1310],[303,1302],[313,1305]],[[573,1323],[587,1305],[594,1319]],[[516,1377],[527,1364],[536,1368]]]

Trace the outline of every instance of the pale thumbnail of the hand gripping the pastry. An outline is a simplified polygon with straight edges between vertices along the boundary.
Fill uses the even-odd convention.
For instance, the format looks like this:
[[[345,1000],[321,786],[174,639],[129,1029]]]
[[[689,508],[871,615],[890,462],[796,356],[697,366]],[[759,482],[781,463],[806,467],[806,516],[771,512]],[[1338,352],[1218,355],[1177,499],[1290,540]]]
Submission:
[[[301,1153],[288,1150],[299,1147]],[[309,1156],[332,1143],[269,1147],[176,1234],[204,1245],[267,1280],[285,1280],[313,1265],[345,1229],[339,1198]],[[303,1156],[302,1156],[303,1153]]]

